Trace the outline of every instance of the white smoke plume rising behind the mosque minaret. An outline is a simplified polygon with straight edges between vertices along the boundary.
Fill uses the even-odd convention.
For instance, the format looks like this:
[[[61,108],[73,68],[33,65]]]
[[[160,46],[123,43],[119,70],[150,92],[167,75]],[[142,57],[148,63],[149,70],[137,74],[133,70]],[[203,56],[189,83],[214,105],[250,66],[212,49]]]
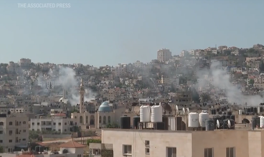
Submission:
[[[71,105],[76,105],[80,103],[79,87],[80,79],[76,77],[76,73],[72,68],[69,67],[60,67],[59,68],[59,82],[63,89],[66,89],[68,93],[67,99]],[[90,101],[93,99],[93,96],[96,94],[93,93],[90,89],[85,90],[84,101]]]

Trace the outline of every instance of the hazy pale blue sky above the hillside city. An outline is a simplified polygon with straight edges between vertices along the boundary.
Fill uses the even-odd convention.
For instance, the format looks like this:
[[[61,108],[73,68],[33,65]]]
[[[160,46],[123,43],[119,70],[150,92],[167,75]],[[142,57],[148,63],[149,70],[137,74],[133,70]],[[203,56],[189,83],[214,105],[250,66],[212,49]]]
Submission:
[[[70,3],[19,8],[18,3]],[[157,50],[264,44],[261,0],[1,0],[0,62],[149,62]]]

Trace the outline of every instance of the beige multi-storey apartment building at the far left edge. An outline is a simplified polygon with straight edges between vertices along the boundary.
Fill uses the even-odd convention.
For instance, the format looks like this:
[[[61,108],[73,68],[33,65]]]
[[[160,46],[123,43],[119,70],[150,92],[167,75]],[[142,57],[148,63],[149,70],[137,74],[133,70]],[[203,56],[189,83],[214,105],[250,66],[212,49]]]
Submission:
[[[0,114],[0,146],[4,152],[12,152],[15,147],[25,148],[28,142],[28,117],[24,114]]]

